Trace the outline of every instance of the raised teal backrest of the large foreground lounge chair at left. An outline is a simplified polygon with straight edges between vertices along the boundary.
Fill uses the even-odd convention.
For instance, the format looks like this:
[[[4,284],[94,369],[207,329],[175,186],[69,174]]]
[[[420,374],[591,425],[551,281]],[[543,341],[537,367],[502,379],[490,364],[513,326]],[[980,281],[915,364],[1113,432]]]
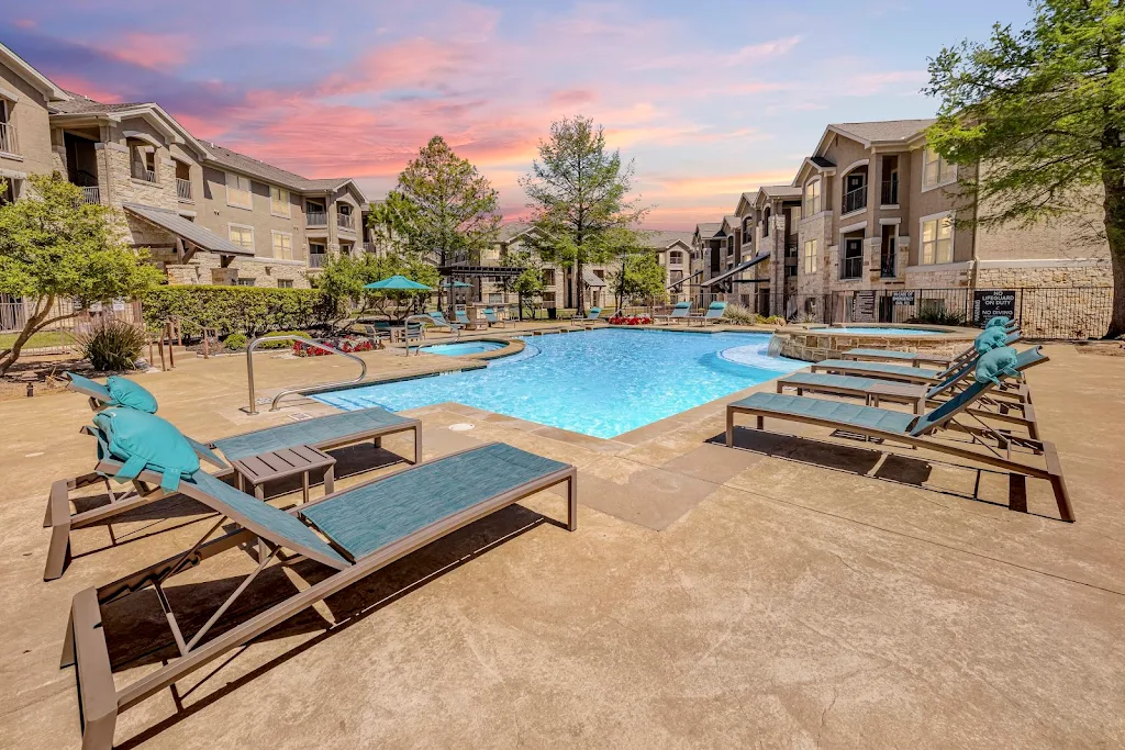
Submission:
[[[262,539],[340,570],[350,564],[296,516],[246,495],[206,471],[198,471],[180,482],[180,491],[215,508]]]

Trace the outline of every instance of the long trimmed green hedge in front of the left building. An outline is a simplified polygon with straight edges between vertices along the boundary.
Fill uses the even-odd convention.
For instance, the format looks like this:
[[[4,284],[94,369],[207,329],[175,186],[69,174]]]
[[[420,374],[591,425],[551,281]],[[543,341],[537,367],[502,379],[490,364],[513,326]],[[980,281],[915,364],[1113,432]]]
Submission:
[[[315,289],[266,289],[255,287],[158,287],[144,299],[145,323],[160,327],[172,316],[217,329],[219,336],[245,333],[260,336],[271,331],[307,329],[321,322],[320,292]],[[190,331],[184,325],[184,332]]]

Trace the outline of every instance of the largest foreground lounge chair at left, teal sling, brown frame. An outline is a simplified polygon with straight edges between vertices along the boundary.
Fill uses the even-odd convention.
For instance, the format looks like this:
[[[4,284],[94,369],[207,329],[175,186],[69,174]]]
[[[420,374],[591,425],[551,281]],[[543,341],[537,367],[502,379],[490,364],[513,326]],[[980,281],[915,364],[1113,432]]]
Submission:
[[[100,469],[111,473],[114,463],[116,461],[106,460]],[[161,480],[161,476],[152,471],[143,472],[140,478],[146,482]],[[566,482],[566,528],[574,531],[577,525],[575,468],[504,443],[489,443],[429,461],[288,512],[202,471],[181,479],[178,491],[218,512],[222,516],[218,524],[186,552],[107,586],[83,589],[73,598],[61,668],[74,666],[76,670],[82,747],[84,750],[109,750],[119,713],[395,560],[562,482]],[[237,524],[235,530],[208,541],[226,519]],[[253,550],[256,550],[256,567],[205,624],[194,634],[183,633],[173,607],[177,599],[170,602],[164,596],[169,580],[224,552],[230,558],[248,552],[254,554]],[[249,612],[228,614],[231,605],[263,570],[297,561],[320,563],[302,590],[286,587],[278,591],[285,598],[268,608],[261,609],[254,604]],[[191,578],[198,580],[199,571],[192,571]],[[183,587],[192,585],[190,581],[182,584]],[[101,626],[101,607],[147,589],[154,590],[164,605],[171,631],[168,647],[174,648],[177,653],[159,669],[146,671],[143,677],[118,688]],[[147,595],[142,594],[142,597]],[[217,634],[212,635],[213,627],[224,616],[233,622],[223,623]]]

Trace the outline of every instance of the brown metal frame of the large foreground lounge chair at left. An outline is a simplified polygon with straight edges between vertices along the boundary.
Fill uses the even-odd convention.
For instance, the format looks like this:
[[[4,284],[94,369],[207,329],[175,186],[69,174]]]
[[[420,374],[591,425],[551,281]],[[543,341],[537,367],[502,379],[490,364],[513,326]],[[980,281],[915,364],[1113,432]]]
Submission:
[[[485,445],[458,451],[449,455],[436,459],[441,461],[457,455],[479,450]],[[432,463],[432,462],[430,462]],[[120,468],[116,461],[104,461],[99,464],[99,470],[111,473]],[[411,471],[418,470],[426,464],[420,464],[413,469],[395,475],[402,476]],[[145,482],[159,484],[160,475],[151,471],[142,472],[141,478]],[[333,495],[320,498],[313,503],[302,505],[290,509],[290,515],[299,515],[309,507],[326,500],[353,491],[357,487],[382,481],[386,478],[374,479],[356,487],[341,490]],[[173,555],[153,566],[137,571],[112,584],[98,588],[87,588],[79,591],[71,605],[70,622],[66,625],[66,635],[63,641],[62,660],[60,668],[75,666],[78,677],[79,704],[82,719],[82,749],[83,750],[111,750],[114,744],[114,730],[117,724],[117,715],[142,701],[155,695],[182,677],[190,675],[200,667],[214,661],[224,653],[249,643],[262,633],[276,625],[292,617],[297,613],[323,602],[333,594],[351,586],[366,578],[377,570],[387,567],[392,562],[403,558],[426,544],[439,540],[448,534],[478,521],[487,515],[501,510],[510,505],[534,495],[536,493],[549,489],[561,482],[567,484],[567,531],[575,531],[578,523],[578,496],[577,496],[577,470],[573,466],[560,469],[550,475],[544,475],[531,481],[524,482],[503,494],[487,498],[464,508],[457,513],[448,515],[429,526],[408,534],[394,542],[385,544],[368,554],[348,564],[317,553],[315,550],[272,533],[262,526],[254,524],[249,518],[240,515],[232,508],[223,510],[224,518],[213,526],[196,544],[180,554]],[[206,493],[188,482],[181,482],[181,491],[188,497],[204,500]],[[223,521],[230,518],[242,526],[215,540],[207,541],[208,537],[222,525]],[[331,543],[331,540],[330,540]],[[163,594],[163,584],[190,568],[200,564],[204,560],[225,552],[232,548],[245,544],[256,544],[258,566],[250,572],[242,584],[223,602],[210,618],[190,639],[186,639],[180,631],[168,597]],[[333,545],[338,552],[339,548]],[[282,548],[288,549],[292,554],[287,554]],[[230,631],[215,639],[200,643],[207,631],[223,616],[230,606],[237,599],[250,582],[269,566],[270,562],[279,564],[291,564],[299,560],[310,559],[334,568],[338,572],[325,580],[315,584],[288,599],[280,602],[269,609],[261,612],[250,620],[236,625]],[[161,669],[150,672],[146,676],[130,683],[122,689],[117,689],[114,683],[112,666],[109,661],[109,649],[106,642],[105,629],[101,626],[101,605],[123,598],[138,590],[152,587],[160,600],[161,607],[169,622],[176,645],[180,651],[180,657],[166,663]]]

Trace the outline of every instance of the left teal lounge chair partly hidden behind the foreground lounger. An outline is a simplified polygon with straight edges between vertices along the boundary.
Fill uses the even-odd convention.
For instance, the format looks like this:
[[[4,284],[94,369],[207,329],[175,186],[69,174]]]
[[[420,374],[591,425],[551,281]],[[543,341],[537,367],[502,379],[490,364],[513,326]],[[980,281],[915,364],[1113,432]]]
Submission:
[[[99,400],[102,394],[98,389],[104,388],[100,383],[81,376],[68,374],[71,374],[72,378],[71,388],[90,396],[91,406],[97,403],[96,412],[111,406]],[[91,387],[90,383],[97,388]],[[106,390],[106,394],[108,392]],[[406,431],[414,433],[414,459],[413,461],[407,459],[407,461],[416,464],[422,459],[422,443],[418,432],[421,426],[422,423],[418,419],[403,417],[376,406],[356,412],[330,414],[276,427],[266,427],[207,443],[192,440],[187,435],[184,439],[201,460],[219,469],[216,473],[217,477],[224,477],[231,473],[231,469],[223,459],[240,461],[298,445],[331,450],[368,440],[372,441],[376,448],[379,448],[385,436]],[[84,427],[83,431],[97,436],[89,427]],[[216,450],[223,453],[223,459],[216,455]],[[132,489],[117,494],[110,481],[112,478],[111,475],[94,469],[79,477],[58,479],[51,485],[47,508],[43,518],[43,526],[51,528],[51,543],[43,569],[44,580],[53,580],[63,575],[70,553],[72,531],[102,523],[127,510],[154,503],[162,497],[159,493],[154,494],[152,488],[138,482],[133,482]],[[105,485],[109,503],[88,510],[72,510],[71,493],[92,485]]]

